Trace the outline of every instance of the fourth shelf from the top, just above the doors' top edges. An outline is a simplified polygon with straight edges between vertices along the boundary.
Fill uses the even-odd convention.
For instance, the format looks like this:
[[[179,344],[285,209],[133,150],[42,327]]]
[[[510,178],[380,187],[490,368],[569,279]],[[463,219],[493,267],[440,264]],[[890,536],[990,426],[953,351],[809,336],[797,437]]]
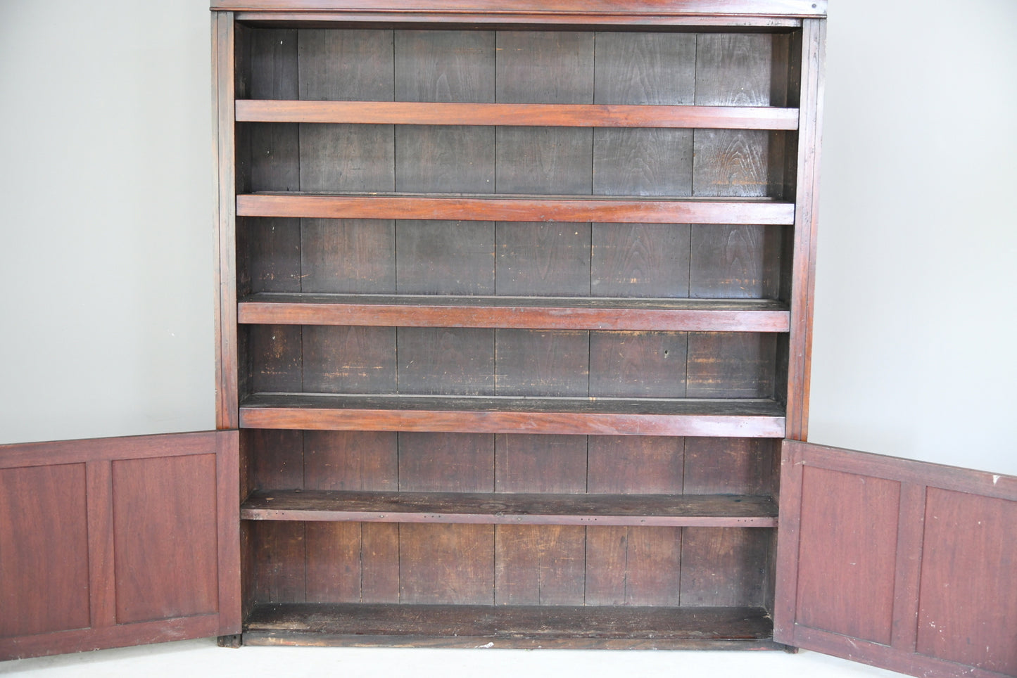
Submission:
[[[240,427],[782,438],[770,399],[600,398],[255,393]]]

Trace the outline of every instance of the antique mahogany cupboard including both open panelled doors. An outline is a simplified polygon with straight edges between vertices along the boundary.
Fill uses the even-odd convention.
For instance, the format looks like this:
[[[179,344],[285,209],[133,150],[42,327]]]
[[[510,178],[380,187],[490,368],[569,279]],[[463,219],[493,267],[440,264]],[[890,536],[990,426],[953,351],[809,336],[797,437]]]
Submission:
[[[1017,674],[1017,478],[801,442],[825,0],[213,10],[221,430],[0,450],[3,658]]]

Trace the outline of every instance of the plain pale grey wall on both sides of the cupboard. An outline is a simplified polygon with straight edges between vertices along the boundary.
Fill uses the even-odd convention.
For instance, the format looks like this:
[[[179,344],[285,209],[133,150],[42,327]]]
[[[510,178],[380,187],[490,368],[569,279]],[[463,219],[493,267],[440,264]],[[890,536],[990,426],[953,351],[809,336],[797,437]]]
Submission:
[[[918,6],[831,2],[811,438],[1017,474],[1017,3]],[[214,426],[208,33],[0,2],[0,442]]]

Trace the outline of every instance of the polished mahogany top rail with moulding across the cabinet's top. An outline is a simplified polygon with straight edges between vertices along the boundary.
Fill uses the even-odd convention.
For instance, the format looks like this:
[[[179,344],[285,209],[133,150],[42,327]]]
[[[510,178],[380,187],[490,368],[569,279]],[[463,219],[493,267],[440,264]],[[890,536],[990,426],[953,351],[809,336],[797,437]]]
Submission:
[[[242,21],[794,28],[827,0],[215,0]]]

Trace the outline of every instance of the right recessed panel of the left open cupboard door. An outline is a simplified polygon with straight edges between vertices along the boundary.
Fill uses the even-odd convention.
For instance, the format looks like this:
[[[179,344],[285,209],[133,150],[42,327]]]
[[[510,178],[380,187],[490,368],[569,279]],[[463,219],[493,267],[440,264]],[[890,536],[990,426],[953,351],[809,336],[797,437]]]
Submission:
[[[216,456],[113,461],[118,623],[219,610]]]

